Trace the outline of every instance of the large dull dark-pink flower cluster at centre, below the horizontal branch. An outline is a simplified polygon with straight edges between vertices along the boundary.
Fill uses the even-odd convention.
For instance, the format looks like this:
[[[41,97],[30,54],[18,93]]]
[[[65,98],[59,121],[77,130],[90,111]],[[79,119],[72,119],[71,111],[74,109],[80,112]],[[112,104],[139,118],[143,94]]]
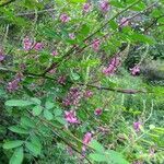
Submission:
[[[79,106],[80,99],[82,97],[81,91],[78,87],[71,87],[67,97],[63,99],[65,106]]]

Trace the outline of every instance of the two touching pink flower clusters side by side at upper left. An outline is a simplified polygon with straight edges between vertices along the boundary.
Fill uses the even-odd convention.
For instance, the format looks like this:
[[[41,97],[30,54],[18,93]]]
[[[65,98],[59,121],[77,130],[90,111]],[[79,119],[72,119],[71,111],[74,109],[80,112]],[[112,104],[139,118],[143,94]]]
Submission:
[[[34,45],[33,45],[34,44]],[[31,50],[32,48],[34,48],[35,50],[42,50],[44,48],[43,43],[33,43],[33,40],[26,36],[23,39],[23,48],[24,50]]]

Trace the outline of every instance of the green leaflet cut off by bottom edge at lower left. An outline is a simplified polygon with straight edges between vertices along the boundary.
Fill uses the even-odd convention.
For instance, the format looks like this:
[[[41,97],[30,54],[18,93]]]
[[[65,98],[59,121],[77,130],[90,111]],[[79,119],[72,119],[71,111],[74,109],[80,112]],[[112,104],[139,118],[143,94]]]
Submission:
[[[23,162],[23,147],[15,149],[13,155],[10,159],[9,164],[21,164]]]

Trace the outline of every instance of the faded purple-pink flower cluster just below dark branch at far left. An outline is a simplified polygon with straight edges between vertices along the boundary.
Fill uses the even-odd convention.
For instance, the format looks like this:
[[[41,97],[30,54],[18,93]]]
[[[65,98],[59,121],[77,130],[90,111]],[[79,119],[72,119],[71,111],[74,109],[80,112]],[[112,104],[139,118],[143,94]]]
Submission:
[[[8,83],[7,90],[9,92],[16,91],[19,89],[19,83],[21,82],[22,78],[23,78],[23,74],[17,73],[14,80]]]

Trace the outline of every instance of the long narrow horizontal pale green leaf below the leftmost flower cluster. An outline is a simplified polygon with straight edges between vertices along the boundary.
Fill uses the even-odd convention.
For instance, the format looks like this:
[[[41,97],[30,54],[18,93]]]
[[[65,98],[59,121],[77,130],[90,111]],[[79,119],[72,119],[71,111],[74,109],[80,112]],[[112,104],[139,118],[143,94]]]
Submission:
[[[23,101],[23,99],[10,99],[5,102],[7,106],[20,106],[20,107],[24,107],[24,106],[30,106],[34,104],[34,102],[30,102],[30,101]]]

